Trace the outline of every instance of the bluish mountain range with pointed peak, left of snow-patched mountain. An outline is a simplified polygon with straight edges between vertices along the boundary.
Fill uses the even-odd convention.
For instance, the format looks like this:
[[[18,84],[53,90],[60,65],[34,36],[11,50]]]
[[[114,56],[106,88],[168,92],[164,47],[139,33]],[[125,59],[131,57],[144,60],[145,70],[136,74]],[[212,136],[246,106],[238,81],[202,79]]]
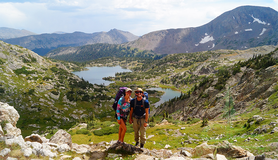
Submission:
[[[50,50],[58,47],[81,46],[95,43],[121,44],[128,41],[134,41],[137,38],[139,37],[130,32],[111,29],[109,32],[95,33],[45,33],[40,35],[3,39],[3,41],[13,45],[20,45],[43,56]]]

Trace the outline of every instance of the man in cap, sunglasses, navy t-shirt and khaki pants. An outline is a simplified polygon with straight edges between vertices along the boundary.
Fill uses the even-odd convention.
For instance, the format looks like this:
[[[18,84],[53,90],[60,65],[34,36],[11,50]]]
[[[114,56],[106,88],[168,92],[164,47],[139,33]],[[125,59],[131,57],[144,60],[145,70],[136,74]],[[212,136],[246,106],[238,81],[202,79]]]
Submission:
[[[150,105],[149,101],[145,97],[142,97],[144,94],[141,88],[137,88],[134,92],[135,98],[130,101],[131,110],[129,113],[129,123],[133,123],[134,140],[136,142],[135,147],[139,148],[140,138],[140,150],[143,151],[144,144],[147,141],[146,129],[148,125]]]

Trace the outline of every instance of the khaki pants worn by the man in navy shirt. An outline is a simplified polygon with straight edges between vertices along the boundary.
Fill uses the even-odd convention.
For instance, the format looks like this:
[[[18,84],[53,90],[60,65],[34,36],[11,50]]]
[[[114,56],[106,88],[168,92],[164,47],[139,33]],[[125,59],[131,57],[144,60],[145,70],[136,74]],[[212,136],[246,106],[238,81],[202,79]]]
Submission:
[[[141,121],[141,127],[140,127],[140,121]],[[139,142],[139,137],[140,137],[140,143],[142,144],[145,144],[147,141],[146,138],[147,128],[144,127],[144,123],[145,123],[145,118],[141,118],[141,119],[133,118],[134,140],[135,142]]]

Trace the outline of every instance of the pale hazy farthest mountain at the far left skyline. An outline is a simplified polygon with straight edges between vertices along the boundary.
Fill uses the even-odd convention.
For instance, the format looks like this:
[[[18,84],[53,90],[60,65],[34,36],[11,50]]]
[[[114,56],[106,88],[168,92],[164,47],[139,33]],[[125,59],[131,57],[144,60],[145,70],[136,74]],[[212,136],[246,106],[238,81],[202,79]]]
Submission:
[[[18,38],[30,35],[37,35],[37,33],[27,31],[25,29],[14,29],[8,27],[0,27],[0,39]]]

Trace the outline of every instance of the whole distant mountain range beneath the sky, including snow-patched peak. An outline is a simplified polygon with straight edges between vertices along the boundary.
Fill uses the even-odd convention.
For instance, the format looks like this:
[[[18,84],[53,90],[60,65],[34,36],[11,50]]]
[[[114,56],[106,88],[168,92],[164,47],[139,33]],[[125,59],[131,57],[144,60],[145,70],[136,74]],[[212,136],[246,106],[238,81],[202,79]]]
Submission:
[[[240,6],[200,27],[154,31],[141,37],[112,29],[109,32],[91,34],[83,32],[40,34],[3,41],[23,46],[39,55],[45,55],[58,47],[95,43],[123,43],[125,47],[153,50],[158,54],[218,49],[245,50],[278,44],[278,12],[269,7]]]

